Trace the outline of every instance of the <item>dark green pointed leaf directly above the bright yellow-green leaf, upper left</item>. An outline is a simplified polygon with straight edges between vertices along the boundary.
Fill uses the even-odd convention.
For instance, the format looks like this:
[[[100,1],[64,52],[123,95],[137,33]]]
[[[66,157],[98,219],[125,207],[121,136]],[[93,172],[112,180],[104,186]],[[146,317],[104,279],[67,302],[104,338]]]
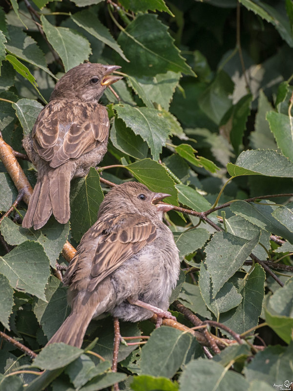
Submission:
[[[44,54],[36,41],[25,34],[21,28],[8,25],[9,39],[6,44],[7,51],[16,57],[32,65],[40,67],[49,75],[55,78],[53,73],[47,68]]]

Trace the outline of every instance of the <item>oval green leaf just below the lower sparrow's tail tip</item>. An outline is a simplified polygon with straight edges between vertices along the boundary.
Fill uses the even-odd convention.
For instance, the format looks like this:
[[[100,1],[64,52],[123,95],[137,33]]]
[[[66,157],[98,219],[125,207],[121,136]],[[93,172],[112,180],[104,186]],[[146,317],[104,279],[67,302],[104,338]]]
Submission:
[[[63,368],[80,357],[83,352],[83,349],[60,342],[45,346],[34,359],[33,364],[41,369],[53,370]],[[54,360],[52,360],[52,357],[54,357]]]

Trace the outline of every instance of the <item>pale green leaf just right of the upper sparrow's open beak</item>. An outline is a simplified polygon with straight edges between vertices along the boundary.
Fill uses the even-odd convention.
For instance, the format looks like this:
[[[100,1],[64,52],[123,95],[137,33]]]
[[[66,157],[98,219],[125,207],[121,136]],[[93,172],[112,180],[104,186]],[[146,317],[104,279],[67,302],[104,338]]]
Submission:
[[[153,77],[127,76],[127,82],[147,107],[153,108],[153,103],[157,103],[168,110],[180,76],[181,73],[167,71]]]

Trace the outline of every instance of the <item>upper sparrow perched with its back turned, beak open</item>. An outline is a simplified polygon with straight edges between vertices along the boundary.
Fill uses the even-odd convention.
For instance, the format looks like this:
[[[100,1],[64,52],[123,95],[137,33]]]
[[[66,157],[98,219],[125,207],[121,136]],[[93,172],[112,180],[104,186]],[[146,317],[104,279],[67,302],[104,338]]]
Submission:
[[[70,217],[73,177],[85,176],[107,150],[109,118],[99,99],[107,86],[122,79],[110,75],[117,65],[81,64],[57,82],[23,147],[38,170],[38,180],[22,226],[41,228],[53,215]]]

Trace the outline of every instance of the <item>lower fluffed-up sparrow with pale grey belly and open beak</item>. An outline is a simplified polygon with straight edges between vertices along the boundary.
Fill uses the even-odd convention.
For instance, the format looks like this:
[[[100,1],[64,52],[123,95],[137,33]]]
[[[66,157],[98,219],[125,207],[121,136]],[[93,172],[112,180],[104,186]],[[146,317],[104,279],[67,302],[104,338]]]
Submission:
[[[104,312],[130,322],[153,313],[174,318],[167,308],[180,261],[162,221],[172,205],[158,203],[166,196],[137,182],[117,185],[105,196],[65,272],[71,313],[49,344],[81,347],[89,322]]]

